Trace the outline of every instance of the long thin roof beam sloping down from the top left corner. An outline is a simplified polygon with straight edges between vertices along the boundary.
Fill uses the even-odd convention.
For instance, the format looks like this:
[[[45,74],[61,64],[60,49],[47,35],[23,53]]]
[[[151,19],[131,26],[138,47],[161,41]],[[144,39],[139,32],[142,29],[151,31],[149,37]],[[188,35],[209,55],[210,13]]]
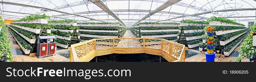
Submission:
[[[22,4],[22,3],[15,3],[15,2],[9,2],[9,1],[1,1],[0,3],[8,4],[8,5],[23,6],[23,7],[33,7],[33,8],[38,8],[38,9],[42,8],[42,9],[47,9],[47,10],[49,10],[49,11],[54,11],[54,12],[59,12],[59,13],[64,13],[64,14],[70,14],[70,15],[80,16],[80,17],[88,18],[88,19],[92,19],[92,20],[97,20],[97,19],[93,19],[93,18],[81,16],[81,15],[78,15],[78,14],[63,12],[63,11],[60,11],[60,10],[51,9],[51,8],[47,8],[47,7],[40,7],[40,6],[35,6],[35,5],[28,5],[28,4]],[[104,21],[102,21],[102,20],[97,20],[97,21],[104,22]]]

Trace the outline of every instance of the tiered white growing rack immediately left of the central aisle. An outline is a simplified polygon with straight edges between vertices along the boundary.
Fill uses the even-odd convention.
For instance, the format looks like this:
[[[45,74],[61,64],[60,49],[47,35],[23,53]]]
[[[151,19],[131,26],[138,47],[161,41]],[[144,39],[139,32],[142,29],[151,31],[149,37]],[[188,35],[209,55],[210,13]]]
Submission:
[[[126,29],[119,23],[78,23],[82,41],[95,38],[121,38]]]

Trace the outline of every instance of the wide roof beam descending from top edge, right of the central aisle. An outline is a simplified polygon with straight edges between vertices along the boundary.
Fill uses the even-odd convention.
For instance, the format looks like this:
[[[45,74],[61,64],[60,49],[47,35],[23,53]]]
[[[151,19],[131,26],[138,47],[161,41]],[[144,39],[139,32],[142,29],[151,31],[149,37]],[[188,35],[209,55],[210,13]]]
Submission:
[[[170,7],[171,5],[178,3],[181,0],[169,0],[166,3],[163,3],[163,5],[159,6],[157,9],[153,10],[152,12],[150,12],[149,14],[147,14],[146,16],[144,16],[143,18],[141,18],[141,20],[139,20],[138,22],[134,23],[137,24],[139,22],[141,22],[142,20],[145,20],[146,18],[152,16],[153,14],[160,12],[163,9],[166,9],[167,7]]]

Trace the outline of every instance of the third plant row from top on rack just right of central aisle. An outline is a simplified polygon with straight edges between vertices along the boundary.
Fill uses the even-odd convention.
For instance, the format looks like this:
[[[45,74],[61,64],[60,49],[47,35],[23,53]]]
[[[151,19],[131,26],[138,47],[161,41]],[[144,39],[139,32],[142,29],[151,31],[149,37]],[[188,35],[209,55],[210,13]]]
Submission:
[[[174,35],[179,33],[178,31],[173,32],[148,32],[148,33],[141,33],[141,36],[153,36],[153,35]]]

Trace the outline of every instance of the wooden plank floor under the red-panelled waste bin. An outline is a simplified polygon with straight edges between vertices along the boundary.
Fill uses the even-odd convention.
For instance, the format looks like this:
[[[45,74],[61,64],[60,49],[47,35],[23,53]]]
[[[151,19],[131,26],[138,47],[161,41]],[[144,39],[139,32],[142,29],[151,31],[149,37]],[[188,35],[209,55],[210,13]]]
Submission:
[[[58,54],[56,54],[55,56],[48,56],[43,58],[28,55],[13,55],[13,57],[13,62],[70,62],[69,59],[62,57]]]

